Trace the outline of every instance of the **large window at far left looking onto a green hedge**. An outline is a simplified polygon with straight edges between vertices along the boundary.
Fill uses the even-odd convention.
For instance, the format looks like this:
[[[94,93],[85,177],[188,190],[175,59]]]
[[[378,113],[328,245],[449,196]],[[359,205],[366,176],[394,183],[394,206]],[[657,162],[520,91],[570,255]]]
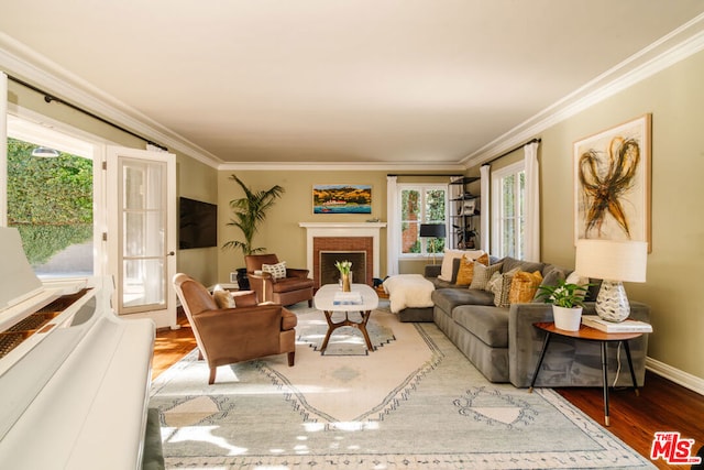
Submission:
[[[7,226],[20,231],[37,276],[95,275],[92,145],[8,118]]]

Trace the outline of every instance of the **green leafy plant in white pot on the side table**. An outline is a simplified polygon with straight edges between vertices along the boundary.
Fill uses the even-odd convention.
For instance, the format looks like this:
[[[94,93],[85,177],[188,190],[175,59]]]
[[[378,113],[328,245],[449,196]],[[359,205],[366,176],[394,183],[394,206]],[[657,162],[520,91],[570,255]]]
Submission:
[[[539,286],[538,297],[542,297],[547,304],[552,304],[556,328],[578,331],[587,291],[588,284],[572,284],[560,280],[557,285]]]

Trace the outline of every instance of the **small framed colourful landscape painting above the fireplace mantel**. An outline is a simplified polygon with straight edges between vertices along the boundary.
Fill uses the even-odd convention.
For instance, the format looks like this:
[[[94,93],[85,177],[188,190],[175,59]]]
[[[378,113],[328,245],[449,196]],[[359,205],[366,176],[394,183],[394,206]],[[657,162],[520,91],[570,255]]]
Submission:
[[[314,185],[314,214],[372,214],[370,185]]]

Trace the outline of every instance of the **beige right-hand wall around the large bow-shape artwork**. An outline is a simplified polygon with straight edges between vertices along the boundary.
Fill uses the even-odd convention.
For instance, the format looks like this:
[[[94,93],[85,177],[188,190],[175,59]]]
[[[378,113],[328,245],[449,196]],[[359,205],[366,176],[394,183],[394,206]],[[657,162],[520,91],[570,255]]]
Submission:
[[[652,113],[652,252],[648,281],[626,284],[652,307],[648,356],[704,380],[704,53],[543,131],[542,259],[574,265],[574,141]]]

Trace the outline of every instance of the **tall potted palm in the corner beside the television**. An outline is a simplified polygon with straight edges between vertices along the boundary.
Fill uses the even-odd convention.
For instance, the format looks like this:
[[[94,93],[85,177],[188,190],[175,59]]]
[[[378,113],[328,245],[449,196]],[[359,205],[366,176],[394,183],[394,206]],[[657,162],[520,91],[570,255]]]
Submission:
[[[231,175],[230,179],[233,179],[242,190],[244,197],[232,199],[230,201],[230,209],[232,209],[233,218],[230,219],[228,226],[233,226],[242,231],[244,240],[230,240],[222,248],[232,248],[241,250],[242,255],[257,253],[266,250],[264,247],[254,247],[254,234],[258,230],[260,223],[266,218],[266,212],[274,205],[276,199],[282,197],[285,189],[275,185],[266,190],[252,190],[235,175]],[[240,288],[246,289],[250,287],[249,280],[246,277],[246,267],[240,267],[238,271],[238,284]]]

